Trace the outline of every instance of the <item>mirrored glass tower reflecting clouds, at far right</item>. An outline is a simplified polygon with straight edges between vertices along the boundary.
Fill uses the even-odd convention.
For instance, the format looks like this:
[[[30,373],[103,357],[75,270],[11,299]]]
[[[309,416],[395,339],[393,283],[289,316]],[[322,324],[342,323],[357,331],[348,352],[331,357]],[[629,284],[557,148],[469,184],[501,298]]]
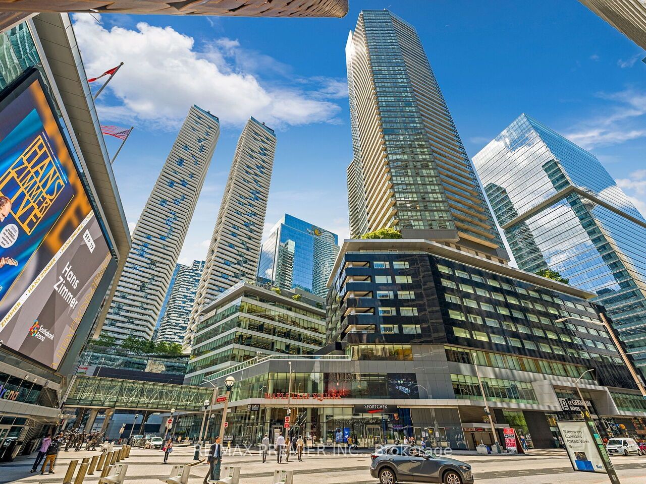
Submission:
[[[599,160],[522,114],[474,156],[518,266],[598,294],[646,368],[646,220]]]

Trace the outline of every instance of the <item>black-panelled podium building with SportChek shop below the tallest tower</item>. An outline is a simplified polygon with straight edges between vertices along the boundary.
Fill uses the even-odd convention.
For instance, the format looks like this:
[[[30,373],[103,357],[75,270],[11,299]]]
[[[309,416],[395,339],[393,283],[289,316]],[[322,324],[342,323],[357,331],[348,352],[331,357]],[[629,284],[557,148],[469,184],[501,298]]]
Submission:
[[[475,449],[493,442],[478,376],[499,441],[512,427],[555,447],[556,421],[581,418],[581,376],[604,436],[646,435],[643,387],[592,296],[441,243],[346,240],[329,279],[328,345],[207,379],[236,379],[227,434],[245,444],[283,431],[289,401],[289,432],[313,445],[413,436]]]

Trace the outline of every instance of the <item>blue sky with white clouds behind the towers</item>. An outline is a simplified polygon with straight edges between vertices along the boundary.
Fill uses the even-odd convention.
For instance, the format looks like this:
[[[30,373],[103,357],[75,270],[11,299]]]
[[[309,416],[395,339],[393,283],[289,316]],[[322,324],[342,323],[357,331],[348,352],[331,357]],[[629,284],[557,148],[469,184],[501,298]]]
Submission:
[[[115,162],[134,227],[193,103],[222,134],[180,261],[205,256],[249,116],[276,128],[266,227],[289,213],[348,236],[351,161],[344,48],[362,8],[412,23],[470,156],[521,112],[599,157],[646,212],[646,56],[576,0],[350,1],[343,19],[77,15],[88,76],[125,64],[103,124],[134,125]],[[120,141],[108,139],[111,152]]]

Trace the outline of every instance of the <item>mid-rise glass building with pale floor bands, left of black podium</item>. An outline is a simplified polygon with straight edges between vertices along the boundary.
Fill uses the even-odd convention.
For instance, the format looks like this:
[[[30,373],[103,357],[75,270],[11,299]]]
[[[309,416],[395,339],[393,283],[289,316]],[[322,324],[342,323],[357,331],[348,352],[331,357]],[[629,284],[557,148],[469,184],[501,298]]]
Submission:
[[[324,346],[324,299],[270,287],[241,281],[204,308],[185,383],[200,385],[214,372],[258,355],[312,354]]]

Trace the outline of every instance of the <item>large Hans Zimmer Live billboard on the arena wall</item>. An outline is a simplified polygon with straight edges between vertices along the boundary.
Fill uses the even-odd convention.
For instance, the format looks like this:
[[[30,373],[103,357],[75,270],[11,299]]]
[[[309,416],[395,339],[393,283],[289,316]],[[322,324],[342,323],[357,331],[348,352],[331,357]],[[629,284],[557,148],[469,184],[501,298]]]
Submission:
[[[0,340],[58,368],[110,250],[37,71],[0,92]]]

